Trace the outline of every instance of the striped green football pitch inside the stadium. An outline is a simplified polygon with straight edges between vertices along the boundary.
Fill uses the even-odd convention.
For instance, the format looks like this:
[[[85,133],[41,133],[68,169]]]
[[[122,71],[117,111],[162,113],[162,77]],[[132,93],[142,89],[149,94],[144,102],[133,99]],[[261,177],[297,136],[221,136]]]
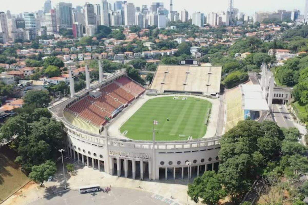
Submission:
[[[182,100],[183,96],[179,96],[177,100],[173,98],[158,97],[148,100],[122,125],[121,133],[128,131],[125,136],[134,140],[152,140],[153,120],[157,120],[158,125],[154,125],[155,129],[162,131],[156,131],[156,140],[203,137],[212,104],[194,97],[188,97],[187,100]]]

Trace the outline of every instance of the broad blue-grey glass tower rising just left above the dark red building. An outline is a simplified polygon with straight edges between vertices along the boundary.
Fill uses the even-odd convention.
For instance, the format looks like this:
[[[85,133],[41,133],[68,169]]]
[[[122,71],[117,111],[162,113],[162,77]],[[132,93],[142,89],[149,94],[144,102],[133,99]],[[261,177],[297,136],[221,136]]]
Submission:
[[[57,17],[57,26],[59,29],[72,28],[73,19],[72,19],[72,4],[59,2],[55,6],[56,8],[56,17]]]

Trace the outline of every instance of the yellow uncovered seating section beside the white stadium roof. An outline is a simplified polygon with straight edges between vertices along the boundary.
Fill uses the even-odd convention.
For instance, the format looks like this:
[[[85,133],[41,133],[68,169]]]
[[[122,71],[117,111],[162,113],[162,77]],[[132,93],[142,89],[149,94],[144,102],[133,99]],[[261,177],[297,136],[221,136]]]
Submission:
[[[225,93],[227,105],[227,120],[225,132],[235,127],[237,123],[244,120],[244,111],[242,110],[241,89],[237,86]]]

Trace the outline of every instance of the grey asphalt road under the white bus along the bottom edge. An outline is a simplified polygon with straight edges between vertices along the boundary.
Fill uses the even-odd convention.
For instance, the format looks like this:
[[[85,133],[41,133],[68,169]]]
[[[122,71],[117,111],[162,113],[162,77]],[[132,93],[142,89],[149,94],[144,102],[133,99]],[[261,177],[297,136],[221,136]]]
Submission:
[[[180,205],[172,199],[166,199],[160,195],[152,194],[138,189],[112,187],[111,191],[103,191],[80,194],[76,190],[67,190],[62,193],[34,200],[27,205]]]

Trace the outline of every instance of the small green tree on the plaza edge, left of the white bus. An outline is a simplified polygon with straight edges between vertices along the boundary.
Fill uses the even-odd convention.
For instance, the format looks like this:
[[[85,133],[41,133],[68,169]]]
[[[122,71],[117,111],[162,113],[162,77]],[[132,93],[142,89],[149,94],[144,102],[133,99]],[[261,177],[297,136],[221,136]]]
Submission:
[[[40,186],[42,186],[44,181],[47,180],[49,176],[55,175],[56,172],[56,164],[51,160],[47,160],[45,163],[38,166],[34,165],[31,173],[29,174],[29,178],[33,179],[37,183],[41,182]]]

